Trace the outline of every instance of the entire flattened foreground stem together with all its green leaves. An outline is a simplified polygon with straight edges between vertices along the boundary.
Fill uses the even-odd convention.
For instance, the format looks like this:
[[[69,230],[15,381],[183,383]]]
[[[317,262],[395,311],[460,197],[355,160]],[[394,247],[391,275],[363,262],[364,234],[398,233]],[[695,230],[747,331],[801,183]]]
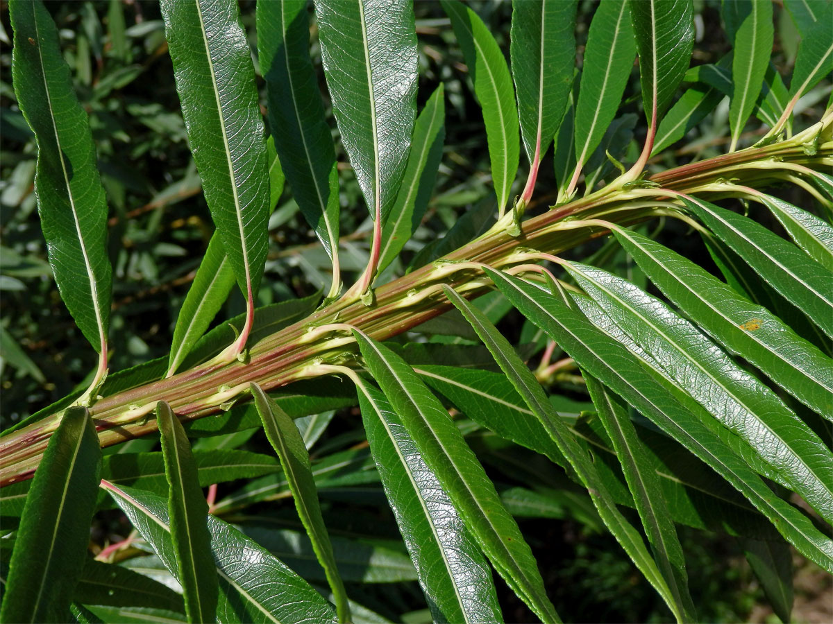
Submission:
[[[731,52],[692,66],[692,0],[586,4],[512,2],[506,50],[475,7],[432,5],[422,28],[461,55],[494,194],[407,265],[447,156],[445,87],[417,94],[412,3],[259,0],[247,32],[236,0],[162,0],[215,230],[170,356],[111,372],[87,111],[50,7],[8,2],[48,262],[99,364],[0,438],[3,622],[382,622],[362,601],[401,601],[367,587],[409,581],[424,619],[501,622],[492,572],[560,622],[525,517],[609,532],[677,622],[698,618],[678,527],[731,536],[790,619],[791,553],[833,572],[833,8],[710,5]],[[774,12],[792,67],[771,60]],[[725,153],[664,156],[705,123]],[[341,154],[368,210],[359,270],[342,262]],[[332,280],[257,308],[284,181]],[[235,286],[245,314],[209,330]],[[351,433],[327,433],[356,405],[338,412]],[[156,431],[160,450],[141,439]],[[372,520],[342,530],[365,491],[392,515],[351,507]],[[112,508],[129,529],[91,552]]]

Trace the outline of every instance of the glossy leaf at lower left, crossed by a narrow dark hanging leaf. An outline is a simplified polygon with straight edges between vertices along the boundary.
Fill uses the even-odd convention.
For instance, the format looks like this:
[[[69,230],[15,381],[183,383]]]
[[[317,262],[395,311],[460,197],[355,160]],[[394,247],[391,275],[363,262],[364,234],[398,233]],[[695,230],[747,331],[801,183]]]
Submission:
[[[102,487],[177,577],[165,500],[106,482]],[[220,584],[218,622],[306,624],[311,620],[335,620],[335,612],[321,594],[266,549],[214,516],[208,516],[207,523],[214,556],[211,569],[216,571]]]

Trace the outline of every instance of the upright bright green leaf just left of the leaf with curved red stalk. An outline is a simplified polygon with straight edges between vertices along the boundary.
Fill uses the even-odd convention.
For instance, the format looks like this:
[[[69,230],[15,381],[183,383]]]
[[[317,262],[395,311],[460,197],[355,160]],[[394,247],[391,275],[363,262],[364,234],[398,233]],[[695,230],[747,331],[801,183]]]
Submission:
[[[636,57],[628,2],[601,2],[590,23],[576,106],[576,164],[584,166],[616,116]]]

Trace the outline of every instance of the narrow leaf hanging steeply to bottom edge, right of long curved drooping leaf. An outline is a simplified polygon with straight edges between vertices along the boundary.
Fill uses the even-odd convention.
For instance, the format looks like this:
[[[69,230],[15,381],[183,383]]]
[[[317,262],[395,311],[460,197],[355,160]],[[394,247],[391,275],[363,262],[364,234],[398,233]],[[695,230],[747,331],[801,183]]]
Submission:
[[[648,542],[651,543],[656,565],[665,577],[676,604],[685,614],[686,621],[696,622],[694,602],[688,592],[686,557],[668,513],[659,478],[651,470],[651,459],[636,435],[628,406],[598,380],[589,375],[585,376],[585,380],[601,423],[616,449],[616,457],[633,494],[636,511],[645,527]]]

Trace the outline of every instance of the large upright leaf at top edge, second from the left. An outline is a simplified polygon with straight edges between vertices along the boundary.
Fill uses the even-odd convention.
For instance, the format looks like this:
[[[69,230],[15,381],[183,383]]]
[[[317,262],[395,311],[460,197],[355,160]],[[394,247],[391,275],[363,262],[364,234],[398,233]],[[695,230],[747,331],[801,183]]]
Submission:
[[[266,265],[269,172],[263,121],[237,2],[162,2],[188,142],[202,192],[244,295]]]

